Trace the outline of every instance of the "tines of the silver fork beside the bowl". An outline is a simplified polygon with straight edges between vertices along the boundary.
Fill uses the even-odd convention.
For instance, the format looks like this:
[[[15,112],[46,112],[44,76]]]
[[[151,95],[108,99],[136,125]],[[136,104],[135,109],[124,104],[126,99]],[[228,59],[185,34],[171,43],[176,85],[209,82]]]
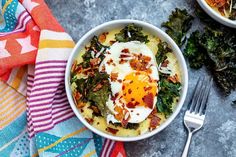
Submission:
[[[212,82],[213,82],[213,79],[208,78],[208,77],[204,77],[204,78],[200,77],[198,79],[191,103],[189,104],[189,107],[188,107],[188,110],[190,111],[190,113],[195,112],[196,114],[199,114],[199,115],[205,114],[207,100],[209,97]]]

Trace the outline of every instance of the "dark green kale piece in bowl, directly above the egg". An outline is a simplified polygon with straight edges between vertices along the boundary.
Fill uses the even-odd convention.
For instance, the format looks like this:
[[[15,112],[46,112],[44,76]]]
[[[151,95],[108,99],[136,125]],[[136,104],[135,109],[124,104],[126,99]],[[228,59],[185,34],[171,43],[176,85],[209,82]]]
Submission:
[[[128,42],[128,41],[140,41],[147,43],[149,42],[148,36],[142,32],[142,27],[134,24],[129,24],[123,28],[120,33],[115,34],[116,41]]]

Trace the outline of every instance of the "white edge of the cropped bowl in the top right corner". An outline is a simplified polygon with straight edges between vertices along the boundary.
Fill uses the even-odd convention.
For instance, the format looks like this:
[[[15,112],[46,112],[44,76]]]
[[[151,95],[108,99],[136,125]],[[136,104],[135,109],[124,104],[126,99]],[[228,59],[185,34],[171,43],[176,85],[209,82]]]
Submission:
[[[211,8],[205,0],[197,0],[197,2],[202,7],[202,9],[216,21],[220,22],[221,24],[225,26],[236,28],[236,20],[230,20],[222,16],[220,13],[218,13],[213,8]]]

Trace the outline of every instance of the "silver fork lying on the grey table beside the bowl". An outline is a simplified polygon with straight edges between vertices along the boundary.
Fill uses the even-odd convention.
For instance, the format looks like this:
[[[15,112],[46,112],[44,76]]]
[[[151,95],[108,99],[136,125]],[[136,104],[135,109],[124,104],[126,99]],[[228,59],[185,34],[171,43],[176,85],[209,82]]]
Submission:
[[[192,135],[203,126],[207,100],[209,97],[212,82],[212,78],[204,77],[203,79],[198,79],[192,100],[184,115],[184,125],[188,130],[188,139],[186,141],[182,157],[188,156],[188,150],[191,143]]]

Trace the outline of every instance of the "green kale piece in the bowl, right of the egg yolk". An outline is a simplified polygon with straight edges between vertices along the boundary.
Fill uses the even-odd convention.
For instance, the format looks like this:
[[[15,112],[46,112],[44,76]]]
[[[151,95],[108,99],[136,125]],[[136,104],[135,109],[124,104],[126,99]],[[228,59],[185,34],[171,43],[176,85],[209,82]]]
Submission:
[[[173,102],[175,98],[180,96],[180,83],[173,83],[168,81],[168,76],[160,75],[160,91],[157,97],[157,108],[158,111],[164,113],[168,117],[173,112]]]

